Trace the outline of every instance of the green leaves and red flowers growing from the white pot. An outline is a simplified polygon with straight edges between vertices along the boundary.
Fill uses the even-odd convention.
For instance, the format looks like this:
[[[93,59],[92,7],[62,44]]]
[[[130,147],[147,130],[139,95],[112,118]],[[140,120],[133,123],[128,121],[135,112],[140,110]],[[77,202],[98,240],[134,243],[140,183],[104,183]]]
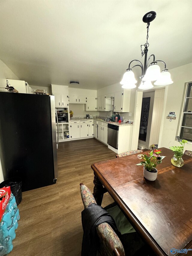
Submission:
[[[149,172],[154,172],[154,168],[162,163],[162,159],[165,156],[159,155],[161,153],[161,149],[152,150],[150,153],[146,154],[139,154],[137,158],[143,159],[139,164],[136,165],[143,165],[146,170]]]

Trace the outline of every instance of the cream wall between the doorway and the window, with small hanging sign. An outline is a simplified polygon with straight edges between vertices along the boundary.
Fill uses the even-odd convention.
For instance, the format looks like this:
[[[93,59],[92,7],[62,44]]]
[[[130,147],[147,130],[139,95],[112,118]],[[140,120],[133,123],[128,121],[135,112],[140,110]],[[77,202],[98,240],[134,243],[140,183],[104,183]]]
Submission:
[[[179,115],[183,108],[183,92],[185,83],[192,81],[192,63],[173,68],[169,70],[171,73],[173,84],[165,89],[165,106],[162,127],[160,131],[159,146],[169,148],[170,146],[179,146],[179,142],[175,140],[177,129],[179,126]],[[169,112],[175,112],[176,119],[170,122],[166,119]],[[192,143],[187,143],[184,150],[192,150]]]

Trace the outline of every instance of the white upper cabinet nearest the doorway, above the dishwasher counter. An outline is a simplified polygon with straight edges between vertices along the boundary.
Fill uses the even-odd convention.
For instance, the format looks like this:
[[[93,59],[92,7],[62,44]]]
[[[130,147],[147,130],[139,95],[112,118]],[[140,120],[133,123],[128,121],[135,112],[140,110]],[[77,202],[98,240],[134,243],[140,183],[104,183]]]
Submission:
[[[131,91],[115,93],[114,112],[129,112]]]

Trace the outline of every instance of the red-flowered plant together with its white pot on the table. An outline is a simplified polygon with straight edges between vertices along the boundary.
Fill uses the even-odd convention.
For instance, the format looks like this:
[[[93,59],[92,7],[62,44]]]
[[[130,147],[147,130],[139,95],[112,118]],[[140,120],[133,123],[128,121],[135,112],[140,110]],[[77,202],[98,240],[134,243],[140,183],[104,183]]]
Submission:
[[[152,150],[150,153],[139,154],[137,158],[143,159],[139,164],[143,165],[143,174],[144,177],[150,181],[154,181],[157,179],[158,170],[155,168],[158,164],[162,163],[162,159],[165,156],[159,155],[161,153],[161,149]]]

